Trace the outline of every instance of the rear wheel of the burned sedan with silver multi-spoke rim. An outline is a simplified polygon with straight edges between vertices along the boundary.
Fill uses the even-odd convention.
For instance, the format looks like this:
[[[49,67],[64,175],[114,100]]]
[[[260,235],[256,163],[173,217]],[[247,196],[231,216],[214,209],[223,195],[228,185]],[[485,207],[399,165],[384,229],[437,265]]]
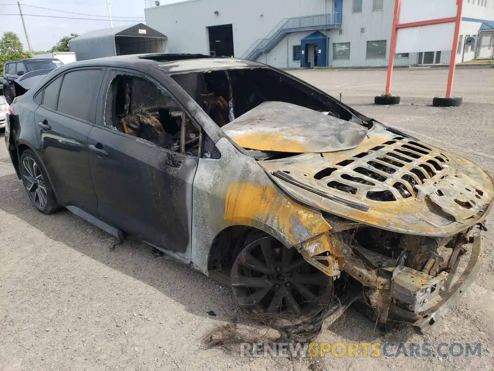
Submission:
[[[22,184],[34,207],[44,214],[51,214],[61,209],[46,172],[30,149],[22,152],[19,171]]]

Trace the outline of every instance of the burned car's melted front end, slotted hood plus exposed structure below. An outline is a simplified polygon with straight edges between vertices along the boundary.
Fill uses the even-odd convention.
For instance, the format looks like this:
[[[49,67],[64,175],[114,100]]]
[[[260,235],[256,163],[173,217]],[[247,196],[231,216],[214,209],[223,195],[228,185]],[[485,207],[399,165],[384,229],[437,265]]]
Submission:
[[[289,196],[323,211],[329,231],[295,247],[333,279],[360,282],[381,324],[427,331],[480,269],[494,185],[469,160],[374,123],[356,148],[259,164]]]

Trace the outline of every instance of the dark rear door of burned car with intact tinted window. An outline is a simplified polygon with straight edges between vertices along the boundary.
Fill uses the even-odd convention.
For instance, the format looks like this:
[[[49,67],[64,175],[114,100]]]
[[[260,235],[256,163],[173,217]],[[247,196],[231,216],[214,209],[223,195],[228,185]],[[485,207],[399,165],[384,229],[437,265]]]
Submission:
[[[101,68],[69,70],[43,90],[35,112],[41,160],[57,200],[97,215],[91,181],[87,135],[94,124],[96,100],[104,76]]]

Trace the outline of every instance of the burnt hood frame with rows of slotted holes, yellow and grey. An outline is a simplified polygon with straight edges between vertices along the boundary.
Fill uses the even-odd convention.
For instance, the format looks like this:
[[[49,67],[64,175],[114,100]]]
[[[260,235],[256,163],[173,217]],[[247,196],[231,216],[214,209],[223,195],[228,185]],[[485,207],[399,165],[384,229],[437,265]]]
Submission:
[[[378,123],[356,148],[258,163],[291,197],[394,232],[444,236],[463,231],[484,219],[494,197],[493,179],[475,163]],[[437,193],[441,188],[443,196]]]

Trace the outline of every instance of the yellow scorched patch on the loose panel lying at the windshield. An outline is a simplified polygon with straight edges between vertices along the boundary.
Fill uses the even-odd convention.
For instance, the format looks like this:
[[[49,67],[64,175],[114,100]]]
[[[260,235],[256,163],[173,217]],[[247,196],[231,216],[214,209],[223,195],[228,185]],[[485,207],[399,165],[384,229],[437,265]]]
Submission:
[[[260,151],[311,152],[304,143],[278,133],[244,133],[232,139],[241,147]]]

